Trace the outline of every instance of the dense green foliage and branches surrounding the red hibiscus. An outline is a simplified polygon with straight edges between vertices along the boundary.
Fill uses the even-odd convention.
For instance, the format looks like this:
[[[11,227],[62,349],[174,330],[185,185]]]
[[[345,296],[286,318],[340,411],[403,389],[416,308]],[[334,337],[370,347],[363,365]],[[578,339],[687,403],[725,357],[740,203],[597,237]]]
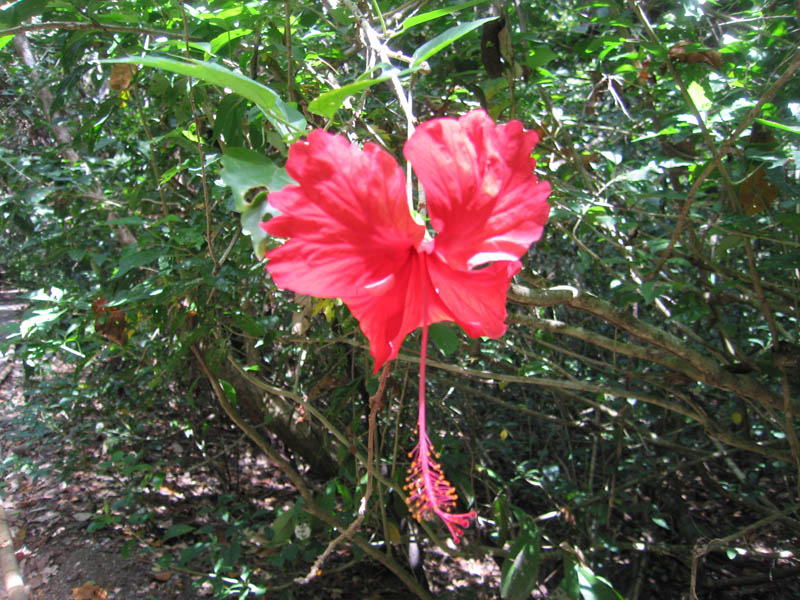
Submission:
[[[299,496],[242,508],[228,478],[233,496],[166,532],[188,542],[160,560],[220,597],[305,575],[362,516],[341,543],[420,597],[417,540],[493,556],[507,598],[654,597],[665,580],[674,597],[780,597],[767,565],[793,572],[800,530],[795,6],[6,7],[0,266],[30,302],[12,341],[50,398],[38,420],[76,446],[105,436],[103,468],[125,475],[93,526],[146,528],[141,498],[179,476],[153,420],[209,461],[234,424]],[[310,128],[404,164],[409,121],[478,107],[539,133],[553,195],[506,335],[431,328],[431,437],[479,515],[453,549],[401,498],[419,336],[370,405],[358,323],[277,289],[261,257],[279,240],[258,223]],[[54,356],[68,374],[48,376]],[[105,428],[82,429],[97,410]],[[215,520],[235,525],[224,542]],[[259,543],[275,552],[246,552]]]

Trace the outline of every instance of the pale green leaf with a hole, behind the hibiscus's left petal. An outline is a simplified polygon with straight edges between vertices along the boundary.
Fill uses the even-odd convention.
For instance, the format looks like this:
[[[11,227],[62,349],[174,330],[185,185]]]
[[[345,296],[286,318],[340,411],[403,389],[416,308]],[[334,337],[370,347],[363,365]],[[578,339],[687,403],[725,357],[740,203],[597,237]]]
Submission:
[[[265,215],[278,214],[267,202],[267,194],[294,182],[284,169],[247,148],[227,148],[222,166],[222,181],[233,191],[236,212],[242,215],[242,233],[250,236],[253,252],[263,258],[267,234],[259,224]]]

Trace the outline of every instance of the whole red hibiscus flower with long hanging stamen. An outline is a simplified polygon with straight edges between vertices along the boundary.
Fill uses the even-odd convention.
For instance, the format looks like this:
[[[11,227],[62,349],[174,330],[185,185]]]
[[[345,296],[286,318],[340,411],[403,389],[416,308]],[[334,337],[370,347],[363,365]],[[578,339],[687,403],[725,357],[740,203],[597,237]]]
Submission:
[[[475,513],[450,513],[455,490],[426,433],[427,329],[454,321],[472,337],[505,333],[509,283],[550,211],[550,185],[533,174],[537,141],[520,122],[495,125],[482,110],[421,124],[403,154],[425,190],[432,237],[412,216],[391,155],[312,131],[289,150],[286,170],[298,185],[269,195],[281,214],[261,224],[287,238],[267,253],[276,285],[341,298],[369,340],[376,372],[422,327],[420,439],[406,489],[415,517],[439,516],[456,542]]]

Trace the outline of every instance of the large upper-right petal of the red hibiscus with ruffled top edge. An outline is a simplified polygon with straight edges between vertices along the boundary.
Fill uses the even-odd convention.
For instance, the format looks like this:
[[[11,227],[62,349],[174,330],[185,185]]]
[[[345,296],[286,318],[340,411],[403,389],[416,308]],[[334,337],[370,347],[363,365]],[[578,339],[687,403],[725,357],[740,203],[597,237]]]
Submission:
[[[436,252],[457,269],[517,260],[542,235],[550,184],[533,174],[533,131],[482,110],[422,123],[404,154],[425,189]]]

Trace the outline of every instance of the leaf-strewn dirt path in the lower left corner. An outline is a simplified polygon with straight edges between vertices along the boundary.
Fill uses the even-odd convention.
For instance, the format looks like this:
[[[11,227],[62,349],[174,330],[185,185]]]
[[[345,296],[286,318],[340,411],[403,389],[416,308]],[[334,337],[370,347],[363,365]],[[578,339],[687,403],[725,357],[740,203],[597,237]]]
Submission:
[[[0,329],[18,321],[24,304],[14,290],[0,291]],[[2,335],[2,334],[0,334]],[[20,573],[32,600],[158,600],[197,598],[180,575],[154,572],[145,557],[122,558],[124,539],[114,531],[90,533],[96,482],[62,481],[56,465],[63,448],[37,427],[23,394],[22,366],[13,348],[0,355],[0,460],[2,508]],[[35,403],[33,403],[35,404]],[[0,599],[8,598],[5,585]],[[13,597],[12,597],[13,598]]]

